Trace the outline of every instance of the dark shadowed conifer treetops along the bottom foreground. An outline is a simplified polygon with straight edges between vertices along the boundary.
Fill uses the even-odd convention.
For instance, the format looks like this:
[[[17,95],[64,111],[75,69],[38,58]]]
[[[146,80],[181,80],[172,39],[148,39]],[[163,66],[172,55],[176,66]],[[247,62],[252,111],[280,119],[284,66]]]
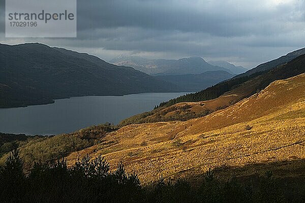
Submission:
[[[35,163],[24,174],[18,150],[0,167],[0,202],[304,202],[305,182],[281,183],[272,172],[248,181],[232,174],[221,181],[209,170],[194,185],[186,179],[164,180],[141,185],[136,174],[124,165],[110,172],[99,156],[84,157],[71,168],[65,160],[52,164]]]

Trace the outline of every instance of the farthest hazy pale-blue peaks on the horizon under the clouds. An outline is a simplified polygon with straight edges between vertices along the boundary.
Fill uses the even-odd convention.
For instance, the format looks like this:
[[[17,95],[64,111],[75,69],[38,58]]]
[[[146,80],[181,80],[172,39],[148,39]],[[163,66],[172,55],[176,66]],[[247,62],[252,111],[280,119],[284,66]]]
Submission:
[[[152,76],[202,74],[207,71],[226,71],[224,67],[211,65],[201,57],[174,59],[146,59],[138,56],[118,56],[110,61],[116,65],[128,65]]]

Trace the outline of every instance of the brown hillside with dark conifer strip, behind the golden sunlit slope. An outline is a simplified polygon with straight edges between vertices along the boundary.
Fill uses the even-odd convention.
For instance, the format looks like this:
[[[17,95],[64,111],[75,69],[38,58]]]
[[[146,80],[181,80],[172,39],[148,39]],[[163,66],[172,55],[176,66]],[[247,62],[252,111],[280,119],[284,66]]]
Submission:
[[[200,92],[171,99],[151,112],[135,115],[121,121],[120,125],[174,120],[186,121],[202,117],[253,95],[275,80],[287,79],[305,73],[304,64],[305,55],[301,55],[268,72],[231,79]]]

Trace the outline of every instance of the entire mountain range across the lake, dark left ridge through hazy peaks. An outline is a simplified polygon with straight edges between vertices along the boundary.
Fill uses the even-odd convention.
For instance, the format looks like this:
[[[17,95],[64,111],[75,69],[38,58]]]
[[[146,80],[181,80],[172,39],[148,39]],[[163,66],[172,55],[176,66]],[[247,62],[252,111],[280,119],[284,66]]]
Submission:
[[[93,55],[39,43],[0,44],[0,52],[0,108],[50,104],[71,96],[194,92],[234,76],[234,71],[200,57],[151,61],[130,57],[138,65],[126,61],[114,65]],[[144,64],[149,68],[144,69]],[[157,72],[148,75],[147,70]]]

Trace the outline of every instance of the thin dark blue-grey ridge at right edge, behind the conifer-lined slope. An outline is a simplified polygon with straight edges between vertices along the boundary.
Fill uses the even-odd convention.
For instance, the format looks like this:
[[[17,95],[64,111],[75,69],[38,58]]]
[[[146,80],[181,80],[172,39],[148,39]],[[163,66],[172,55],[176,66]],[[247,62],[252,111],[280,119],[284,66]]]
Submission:
[[[302,49],[298,49],[296,51],[290,52],[285,56],[281,56],[280,58],[277,58],[275,60],[271,60],[269,62],[265,62],[262,63],[258,66],[256,66],[254,69],[251,69],[249,71],[247,71],[246,73],[240,74],[235,76],[234,78],[240,78],[243,76],[250,76],[254,73],[258,73],[258,72],[263,72],[263,71],[268,71],[273,69],[274,67],[278,66],[278,65],[283,65],[291,60],[293,60],[294,58],[305,54],[305,48]]]

